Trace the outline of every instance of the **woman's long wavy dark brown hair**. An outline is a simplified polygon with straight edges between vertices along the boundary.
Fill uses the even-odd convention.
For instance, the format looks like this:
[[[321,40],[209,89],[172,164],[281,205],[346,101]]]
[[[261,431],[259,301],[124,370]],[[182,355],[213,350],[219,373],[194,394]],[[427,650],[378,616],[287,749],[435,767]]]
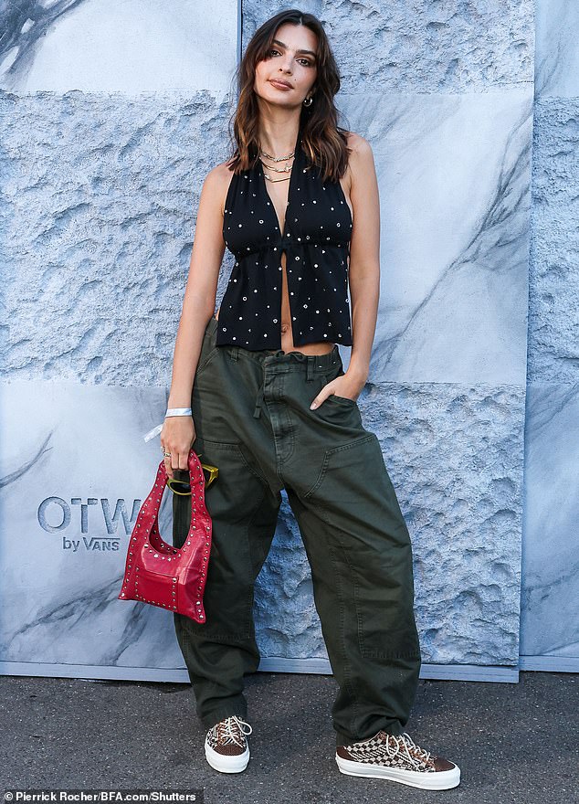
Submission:
[[[333,102],[334,95],[340,90],[340,73],[321,21],[317,16],[304,14],[295,8],[281,11],[258,27],[237,67],[237,110],[229,121],[232,152],[227,160],[229,169],[241,173],[258,162],[259,109],[253,90],[255,71],[258,62],[268,58],[276,30],[284,23],[309,27],[318,37],[317,78],[312,87],[315,94],[309,107],[303,104],[301,107],[302,147],[311,164],[320,169],[322,181],[328,178],[338,181],[346,171],[348,154],[351,153],[344,133],[347,130],[337,125],[338,110]]]

